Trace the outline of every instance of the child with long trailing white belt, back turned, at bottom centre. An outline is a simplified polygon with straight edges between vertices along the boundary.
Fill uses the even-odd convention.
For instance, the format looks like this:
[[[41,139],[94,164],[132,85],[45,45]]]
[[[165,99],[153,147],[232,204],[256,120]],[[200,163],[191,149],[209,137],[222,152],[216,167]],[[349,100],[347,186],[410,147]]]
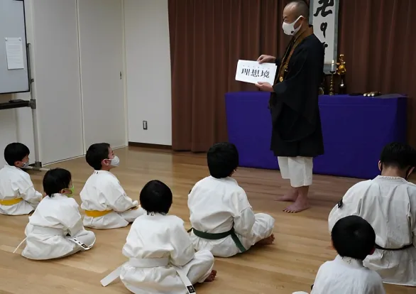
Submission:
[[[185,294],[195,293],[195,283],[214,281],[214,256],[195,252],[182,219],[168,215],[172,201],[172,191],[158,180],[143,187],[140,202],[147,213],[128,232],[123,254],[129,259],[102,285],[120,277],[135,294]]]

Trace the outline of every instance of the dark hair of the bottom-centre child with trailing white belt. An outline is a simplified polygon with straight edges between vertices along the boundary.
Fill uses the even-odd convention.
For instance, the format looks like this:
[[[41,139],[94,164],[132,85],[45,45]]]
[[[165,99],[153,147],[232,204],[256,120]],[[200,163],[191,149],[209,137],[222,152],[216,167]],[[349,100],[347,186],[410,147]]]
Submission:
[[[148,214],[167,214],[172,202],[170,187],[160,180],[150,180],[140,192],[140,205]]]

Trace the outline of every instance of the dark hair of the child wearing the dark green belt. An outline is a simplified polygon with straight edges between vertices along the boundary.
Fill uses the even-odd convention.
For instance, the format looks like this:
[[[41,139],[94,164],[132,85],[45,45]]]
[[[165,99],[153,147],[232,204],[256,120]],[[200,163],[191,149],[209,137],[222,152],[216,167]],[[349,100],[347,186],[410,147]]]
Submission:
[[[207,163],[212,177],[227,178],[239,166],[239,151],[232,143],[216,143],[209,148]]]

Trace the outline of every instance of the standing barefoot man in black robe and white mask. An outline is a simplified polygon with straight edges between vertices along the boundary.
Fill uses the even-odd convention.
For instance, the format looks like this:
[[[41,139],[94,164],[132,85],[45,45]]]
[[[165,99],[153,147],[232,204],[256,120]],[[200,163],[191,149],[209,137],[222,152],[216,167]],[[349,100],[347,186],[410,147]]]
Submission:
[[[312,185],[313,158],[324,154],[318,95],[324,70],[324,45],[309,25],[309,6],[291,1],[283,11],[283,31],[292,36],[283,58],[261,55],[258,62],[275,62],[274,85],[256,86],[270,94],[273,131],[270,149],[278,158],[283,179],[291,189],[280,201],[293,202],[284,211],[309,208],[307,194]]]

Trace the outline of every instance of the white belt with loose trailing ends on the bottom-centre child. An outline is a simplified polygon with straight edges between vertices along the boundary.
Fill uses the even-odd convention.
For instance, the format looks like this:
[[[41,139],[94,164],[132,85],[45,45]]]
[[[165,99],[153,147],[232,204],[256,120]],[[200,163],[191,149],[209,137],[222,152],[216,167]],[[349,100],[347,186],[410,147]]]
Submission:
[[[192,285],[190,279],[187,277],[187,275],[182,271],[181,268],[171,265],[169,263],[169,258],[130,258],[127,261],[127,264],[135,268],[157,268],[159,266],[172,266],[173,268],[175,268],[175,271],[182,280],[182,283],[185,285],[187,292],[189,294],[196,293],[195,288]],[[106,287],[107,285],[115,281],[117,278],[119,278],[120,273],[121,266],[119,266],[118,268],[116,268],[115,271],[112,271],[108,276],[103,278],[101,284],[104,287]]]

